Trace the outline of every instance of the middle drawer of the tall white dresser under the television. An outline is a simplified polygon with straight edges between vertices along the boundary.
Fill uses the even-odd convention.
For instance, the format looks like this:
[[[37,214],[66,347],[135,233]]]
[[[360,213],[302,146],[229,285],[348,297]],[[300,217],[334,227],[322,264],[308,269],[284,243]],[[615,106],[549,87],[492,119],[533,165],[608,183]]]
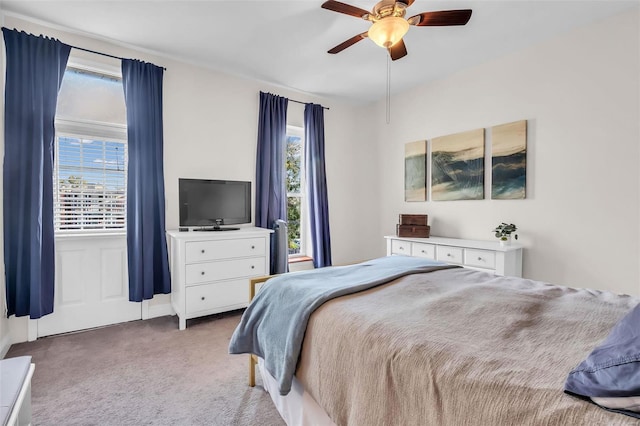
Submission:
[[[220,260],[186,265],[185,281],[188,286],[214,280],[266,275],[266,272],[264,257]]]

